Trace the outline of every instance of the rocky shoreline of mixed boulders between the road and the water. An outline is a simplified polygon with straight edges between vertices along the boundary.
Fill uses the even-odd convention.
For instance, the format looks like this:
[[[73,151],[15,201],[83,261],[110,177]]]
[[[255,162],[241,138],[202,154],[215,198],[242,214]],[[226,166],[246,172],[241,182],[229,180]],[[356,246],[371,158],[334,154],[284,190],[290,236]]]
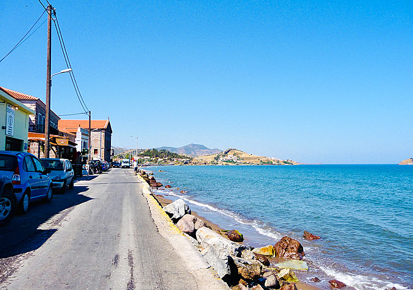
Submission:
[[[159,189],[163,186],[149,174],[140,172],[140,176],[151,188]],[[184,200],[178,199],[172,202],[159,194],[152,194],[152,196],[178,229],[192,241],[217,276],[231,289],[319,289],[300,282],[296,276],[297,271],[309,269],[307,263],[303,261],[305,256],[303,246],[297,240],[285,236],[275,245],[262,248],[249,247],[242,243],[243,236],[236,229],[223,230],[206,221],[192,212]],[[307,240],[320,238],[308,232],[305,232],[304,237]],[[320,280],[313,277],[311,281],[316,284]],[[344,283],[337,280],[331,280],[329,284],[333,289],[346,287]],[[350,288],[346,287],[346,289]]]

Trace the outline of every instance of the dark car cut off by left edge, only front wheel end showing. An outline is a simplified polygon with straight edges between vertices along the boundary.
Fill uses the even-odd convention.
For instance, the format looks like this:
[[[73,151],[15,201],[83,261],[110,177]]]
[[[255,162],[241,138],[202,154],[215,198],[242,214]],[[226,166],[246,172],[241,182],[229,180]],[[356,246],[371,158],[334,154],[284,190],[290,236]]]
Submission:
[[[0,170],[7,168],[7,161],[0,160]],[[17,200],[13,193],[11,178],[0,177],[0,226],[5,226],[13,218],[16,206]]]

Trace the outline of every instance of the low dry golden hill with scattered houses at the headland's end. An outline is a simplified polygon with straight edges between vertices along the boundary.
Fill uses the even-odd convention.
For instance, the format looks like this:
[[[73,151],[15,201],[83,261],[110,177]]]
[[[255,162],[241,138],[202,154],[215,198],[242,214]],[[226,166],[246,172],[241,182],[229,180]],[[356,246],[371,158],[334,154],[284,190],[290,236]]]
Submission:
[[[274,157],[258,156],[237,150],[235,148],[229,148],[225,151],[210,154],[206,156],[198,156],[192,160],[196,165],[230,165],[230,164],[269,164],[269,165],[298,165],[299,163],[290,159],[278,159]]]

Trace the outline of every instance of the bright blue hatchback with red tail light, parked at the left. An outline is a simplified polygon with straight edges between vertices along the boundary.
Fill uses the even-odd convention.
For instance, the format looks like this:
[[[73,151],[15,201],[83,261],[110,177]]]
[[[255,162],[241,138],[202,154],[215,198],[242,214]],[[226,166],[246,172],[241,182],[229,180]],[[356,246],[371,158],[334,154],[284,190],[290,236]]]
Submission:
[[[50,169],[33,154],[16,151],[0,151],[0,176],[11,179],[16,196],[16,210],[25,214],[29,203],[36,200],[50,202],[53,197]]]

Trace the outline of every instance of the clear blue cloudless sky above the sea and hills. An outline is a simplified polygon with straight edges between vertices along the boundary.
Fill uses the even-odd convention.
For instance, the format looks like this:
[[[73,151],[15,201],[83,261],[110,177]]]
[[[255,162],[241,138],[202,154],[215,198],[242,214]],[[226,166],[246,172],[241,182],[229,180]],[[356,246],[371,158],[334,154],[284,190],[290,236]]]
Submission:
[[[50,2],[112,145],[134,146],[132,135],[144,148],[197,143],[309,163],[413,156],[411,0]],[[1,6],[0,59],[43,10]],[[0,86],[45,100],[46,29],[0,63]],[[55,31],[52,55],[52,73],[64,69]],[[82,111],[68,74],[53,77],[51,105]]]

